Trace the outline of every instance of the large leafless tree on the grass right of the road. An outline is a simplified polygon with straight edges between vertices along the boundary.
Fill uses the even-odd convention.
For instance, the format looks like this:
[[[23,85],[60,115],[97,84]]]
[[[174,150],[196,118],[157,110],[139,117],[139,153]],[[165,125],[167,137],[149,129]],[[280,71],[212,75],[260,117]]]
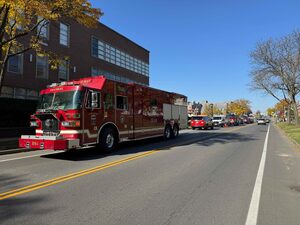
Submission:
[[[286,100],[298,125],[296,97],[300,92],[300,32],[260,42],[250,57],[252,88],[263,90],[278,101]]]

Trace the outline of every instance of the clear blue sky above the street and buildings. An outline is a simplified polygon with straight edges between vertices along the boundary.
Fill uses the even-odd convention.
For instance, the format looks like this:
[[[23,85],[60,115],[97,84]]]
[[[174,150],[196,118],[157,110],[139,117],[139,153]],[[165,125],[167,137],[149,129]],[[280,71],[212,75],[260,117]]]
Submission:
[[[299,0],[93,0],[101,22],[150,51],[150,86],[189,101],[276,100],[249,88],[255,44],[300,28]]]

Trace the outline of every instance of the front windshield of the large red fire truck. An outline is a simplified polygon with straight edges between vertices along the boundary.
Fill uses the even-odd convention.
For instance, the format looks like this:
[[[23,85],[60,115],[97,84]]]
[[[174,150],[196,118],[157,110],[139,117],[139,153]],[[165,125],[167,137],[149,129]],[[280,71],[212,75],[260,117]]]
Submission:
[[[68,91],[41,95],[38,110],[67,110],[80,109],[82,100],[81,91]]]

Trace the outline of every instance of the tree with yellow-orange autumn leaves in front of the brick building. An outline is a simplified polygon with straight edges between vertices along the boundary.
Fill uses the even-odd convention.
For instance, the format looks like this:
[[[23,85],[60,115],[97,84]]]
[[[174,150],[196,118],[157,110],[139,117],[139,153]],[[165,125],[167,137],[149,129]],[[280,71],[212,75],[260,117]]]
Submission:
[[[101,15],[88,0],[0,0],[0,93],[10,57],[33,49],[38,54],[53,56],[52,62],[58,63],[40,41],[43,28],[50,21],[71,18],[93,27]],[[26,44],[21,41],[24,39],[28,40]]]

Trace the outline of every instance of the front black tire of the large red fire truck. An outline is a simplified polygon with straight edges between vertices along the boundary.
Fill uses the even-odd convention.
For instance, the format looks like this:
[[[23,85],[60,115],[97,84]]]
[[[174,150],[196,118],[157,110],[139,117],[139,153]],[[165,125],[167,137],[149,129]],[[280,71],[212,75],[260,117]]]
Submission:
[[[107,127],[101,132],[98,146],[100,150],[105,153],[115,150],[117,146],[117,135],[113,128]]]

